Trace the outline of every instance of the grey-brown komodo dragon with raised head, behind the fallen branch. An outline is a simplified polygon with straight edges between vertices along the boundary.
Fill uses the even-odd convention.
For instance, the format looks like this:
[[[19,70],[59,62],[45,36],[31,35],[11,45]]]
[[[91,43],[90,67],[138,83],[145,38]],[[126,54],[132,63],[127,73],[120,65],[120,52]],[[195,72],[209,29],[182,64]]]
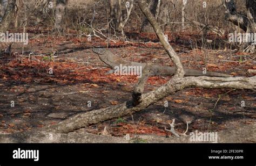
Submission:
[[[123,66],[142,66],[142,69],[145,68],[146,63],[138,63],[138,62],[131,62],[123,60],[122,58],[114,55],[110,52],[110,50],[104,49],[104,48],[93,48],[93,52],[97,53],[99,56],[99,59],[102,60],[104,63],[106,63],[108,66],[112,68],[108,72],[108,74],[113,73],[113,69],[115,66],[119,66],[122,64]],[[148,67],[151,70],[151,76],[157,76],[157,75],[173,75],[175,74],[176,68],[169,67],[169,66],[161,66],[157,64],[149,64]],[[222,74],[222,73],[216,73],[212,71],[207,71],[206,74],[203,73],[202,70],[197,69],[184,69],[185,76],[214,76],[214,77],[232,77],[232,75]]]

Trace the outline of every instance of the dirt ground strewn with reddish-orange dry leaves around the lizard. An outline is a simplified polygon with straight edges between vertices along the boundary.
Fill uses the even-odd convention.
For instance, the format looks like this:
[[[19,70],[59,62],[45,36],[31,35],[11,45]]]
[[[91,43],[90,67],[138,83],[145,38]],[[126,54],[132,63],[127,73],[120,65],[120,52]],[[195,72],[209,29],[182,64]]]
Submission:
[[[207,62],[209,71],[252,76],[246,71],[256,68],[250,61],[255,55],[231,53],[219,48],[201,52],[200,47],[191,47],[183,36],[170,35],[169,39],[184,67],[203,69]],[[136,35],[130,38],[136,38]],[[92,48],[109,47],[111,52],[125,60],[172,66],[157,39],[152,38],[154,36],[142,34],[138,40],[141,42],[109,42],[107,46],[97,38],[87,41],[87,38],[39,36],[24,47],[24,55],[21,55],[22,48],[14,45],[14,54],[0,58],[0,133],[53,125],[73,114],[131,99],[138,78],[105,75],[110,68],[100,61]],[[51,56],[53,52],[55,54]],[[239,62],[240,56],[242,62]],[[149,78],[145,92],[158,88],[170,78]],[[241,106],[243,101],[245,107]],[[218,132],[255,122],[255,107],[255,92],[250,90],[188,88],[159,100],[142,112],[91,125],[84,130],[121,138],[126,134],[131,138],[138,135],[168,138],[172,134],[165,131],[165,127],[169,128],[169,123],[175,119],[178,133],[186,130],[186,121],[191,122],[188,134],[196,130]]]

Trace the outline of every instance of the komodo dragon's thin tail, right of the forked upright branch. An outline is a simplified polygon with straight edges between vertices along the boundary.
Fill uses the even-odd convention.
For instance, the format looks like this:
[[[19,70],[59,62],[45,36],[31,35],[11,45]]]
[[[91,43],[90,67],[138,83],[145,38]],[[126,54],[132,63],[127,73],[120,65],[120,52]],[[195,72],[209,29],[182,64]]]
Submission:
[[[206,74],[203,73],[203,70],[196,69],[184,69],[185,76],[210,76],[210,77],[233,77],[233,75],[216,73],[213,71],[206,71]]]

